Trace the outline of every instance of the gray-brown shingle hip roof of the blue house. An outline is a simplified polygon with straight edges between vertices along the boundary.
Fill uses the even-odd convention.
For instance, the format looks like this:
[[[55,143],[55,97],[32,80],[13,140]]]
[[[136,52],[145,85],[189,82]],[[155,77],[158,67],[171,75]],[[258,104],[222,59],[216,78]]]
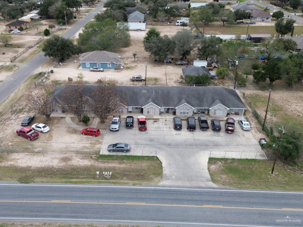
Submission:
[[[91,51],[85,52],[80,56],[80,62],[108,62],[108,63],[122,63],[119,55],[108,51]]]

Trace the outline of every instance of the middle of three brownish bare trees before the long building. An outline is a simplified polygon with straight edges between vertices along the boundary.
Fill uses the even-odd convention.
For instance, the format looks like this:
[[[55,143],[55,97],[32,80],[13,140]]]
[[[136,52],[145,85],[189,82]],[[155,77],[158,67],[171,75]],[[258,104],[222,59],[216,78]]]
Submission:
[[[82,120],[86,98],[83,84],[68,85],[62,92],[62,101],[68,107],[68,111],[73,113],[80,122]]]

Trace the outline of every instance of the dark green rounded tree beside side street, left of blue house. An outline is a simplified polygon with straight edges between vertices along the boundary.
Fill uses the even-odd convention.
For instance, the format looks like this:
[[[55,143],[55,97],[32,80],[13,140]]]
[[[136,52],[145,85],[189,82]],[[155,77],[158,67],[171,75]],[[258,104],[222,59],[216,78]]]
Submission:
[[[65,59],[80,53],[80,47],[72,40],[53,35],[43,43],[42,51],[45,56]]]

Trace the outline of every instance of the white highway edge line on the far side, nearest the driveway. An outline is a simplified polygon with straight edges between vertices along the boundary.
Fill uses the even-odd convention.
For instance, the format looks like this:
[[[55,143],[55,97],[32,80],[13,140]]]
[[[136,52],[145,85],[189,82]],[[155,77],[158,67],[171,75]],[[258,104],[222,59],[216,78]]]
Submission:
[[[174,189],[174,190],[197,190],[197,191],[223,191],[223,192],[263,192],[280,194],[303,194],[303,192],[277,192],[277,191],[251,191],[231,189],[202,189],[202,188],[165,188],[165,187],[139,187],[139,186],[104,186],[104,185],[52,185],[52,184],[0,184],[0,186],[42,186],[42,187],[97,187],[97,188],[140,188],[140,189]]]

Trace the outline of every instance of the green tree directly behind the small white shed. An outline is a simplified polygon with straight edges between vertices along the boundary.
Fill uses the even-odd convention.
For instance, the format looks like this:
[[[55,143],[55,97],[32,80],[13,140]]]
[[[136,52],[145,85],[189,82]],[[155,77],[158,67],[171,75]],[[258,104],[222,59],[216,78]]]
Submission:
[[[198,58],[207,60],[209,57],[216,57],[221,53],[222,39],[212,35],[211,37],[201,38],[200,44],[198,45]]]

